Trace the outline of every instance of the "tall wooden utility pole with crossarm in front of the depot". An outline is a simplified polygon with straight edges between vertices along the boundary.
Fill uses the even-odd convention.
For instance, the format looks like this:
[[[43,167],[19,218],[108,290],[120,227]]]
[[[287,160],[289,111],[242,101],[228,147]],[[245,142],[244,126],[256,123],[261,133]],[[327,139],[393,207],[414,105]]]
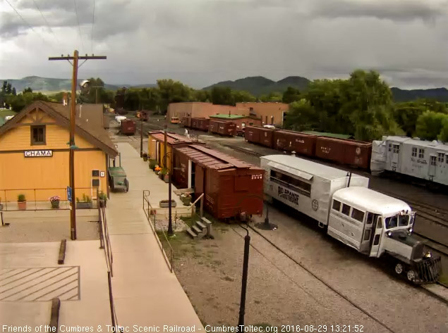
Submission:
[[[60,56],[60,57],[49,57],[49,61],[59,61],[59,60],[66,60],[73,66],[73,75],[71,80],[71,109],[70,109],[70,140],[68,144],[70,145],[70,153],[69,153],[69,184],[71,187],[71,212],[70,212],[70,237],[71,240],[76,239],[76,201],[75,201],[75,149],[78,147],[75,146],[75,117],[76,117],[76,84],[78,82],[78,60],[84,60],[85,61],[89,59],[106,59],[106,56],[79,56],[78,50],[75,50],[73,52],[73,56]],[[81,63],[81,65],[83,65]]]

